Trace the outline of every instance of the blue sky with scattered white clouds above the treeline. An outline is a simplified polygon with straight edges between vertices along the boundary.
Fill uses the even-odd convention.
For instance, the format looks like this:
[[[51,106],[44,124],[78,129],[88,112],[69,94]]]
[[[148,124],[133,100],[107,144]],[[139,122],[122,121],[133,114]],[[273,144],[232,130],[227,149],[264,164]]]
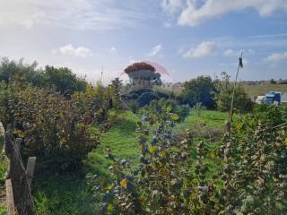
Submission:
[[[0,0],[0,56],[90,82],[142,60],[166,82],[234,77],[241,51],[240,80],[287,79],[287,0]]]

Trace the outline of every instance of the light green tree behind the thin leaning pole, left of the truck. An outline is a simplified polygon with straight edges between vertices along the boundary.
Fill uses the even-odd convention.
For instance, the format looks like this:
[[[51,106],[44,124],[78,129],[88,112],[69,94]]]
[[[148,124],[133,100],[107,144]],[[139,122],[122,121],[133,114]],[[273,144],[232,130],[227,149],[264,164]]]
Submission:
[[[214,101],[217,109],[221,111],[229,111],[233,90],[233,84],[230,82],[230,75],[223,72],[222,80],[215,81],[214,86]],[[235,90],[234,108],[239,110],[249,110],[251,108],[251,104],[250,99],[248,99],[248,94],[245,92],[242,85],[238,85]]]

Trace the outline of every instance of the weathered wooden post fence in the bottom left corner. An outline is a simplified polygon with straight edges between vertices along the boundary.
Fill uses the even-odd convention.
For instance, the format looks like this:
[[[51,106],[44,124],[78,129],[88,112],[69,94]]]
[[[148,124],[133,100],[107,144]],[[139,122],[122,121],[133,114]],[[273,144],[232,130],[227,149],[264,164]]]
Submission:
[[[4,151],[9,160],[6,176],[6,202],[8,215],[33,215],[35,206],[31,197],[30,184],[34,174],[36,157],[28,159],[24,168],[20,154],[22,139],[13,139],[12,131],[4,133]]]

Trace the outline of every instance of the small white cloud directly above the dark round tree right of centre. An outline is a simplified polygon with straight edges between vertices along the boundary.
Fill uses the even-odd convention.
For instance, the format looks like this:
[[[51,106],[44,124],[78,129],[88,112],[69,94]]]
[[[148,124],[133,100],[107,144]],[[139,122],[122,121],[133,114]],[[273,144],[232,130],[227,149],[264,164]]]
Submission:
[[[202,56],[208,56],[215,52],[218,49],[218,46],[216,43],[211,41],[204,41],[201,44],[199,44],[196,48],[189,49],[185,54],[183,54],[183,57],[202,57]]]

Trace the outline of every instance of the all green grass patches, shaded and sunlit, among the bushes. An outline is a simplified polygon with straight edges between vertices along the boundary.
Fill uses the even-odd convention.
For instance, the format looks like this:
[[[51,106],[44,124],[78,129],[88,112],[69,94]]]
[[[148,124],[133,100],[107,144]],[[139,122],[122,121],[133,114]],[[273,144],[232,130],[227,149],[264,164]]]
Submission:
[[[198,116],[191,111],[186,120],[174,127],[175,133],[186,129],[216,128],[222,130],[224,122],[228,118],[227,113],[203,110]],[[84,170],[75,176],[49,176],[36,178],[34,181],[34,195],[38,212],[41,215],[76,215],[99,214],[99,196],[92,196],[88,189],[86,175],[97,175],[103,180],[110,180],[108,159],[105,158],[105,149],[109,147],[118,159],[127,159],[132,165],[137,165],[139,149],[136,122],[139,116],[131,112],[125,112],[118,116],[116,122],[104,133],[100,140],[100,146],[89,154],[84,161]],[[198,126],[202,126],[201,128]],[[218,147],[217,142],[207,140],[210,151]],[[191,151],[196,156],[196,151]],[[211,172],[217,171],[219,160],[214,160],[213,155],[206,158],[206,163],[212,164]]]

